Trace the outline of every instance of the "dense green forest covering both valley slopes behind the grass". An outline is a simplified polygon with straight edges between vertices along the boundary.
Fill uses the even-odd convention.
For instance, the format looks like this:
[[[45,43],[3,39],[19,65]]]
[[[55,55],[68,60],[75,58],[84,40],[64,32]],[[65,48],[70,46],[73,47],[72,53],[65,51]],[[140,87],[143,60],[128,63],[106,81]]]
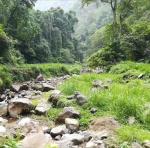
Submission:
[[[150,62],[149,1],[78,0],[68,12],[35,3],[0,1],[1,64]]]

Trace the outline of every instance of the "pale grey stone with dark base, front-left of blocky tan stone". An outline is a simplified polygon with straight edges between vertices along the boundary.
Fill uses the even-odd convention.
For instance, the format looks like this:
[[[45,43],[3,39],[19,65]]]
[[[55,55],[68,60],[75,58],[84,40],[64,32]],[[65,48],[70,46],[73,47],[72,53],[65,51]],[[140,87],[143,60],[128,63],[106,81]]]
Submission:
[[[55,128],[52,128],[51,130],[51,136],[56,137],[58,135],[63,135],[68,133],[69,130],[66,128],[66,125],[57,126]]]

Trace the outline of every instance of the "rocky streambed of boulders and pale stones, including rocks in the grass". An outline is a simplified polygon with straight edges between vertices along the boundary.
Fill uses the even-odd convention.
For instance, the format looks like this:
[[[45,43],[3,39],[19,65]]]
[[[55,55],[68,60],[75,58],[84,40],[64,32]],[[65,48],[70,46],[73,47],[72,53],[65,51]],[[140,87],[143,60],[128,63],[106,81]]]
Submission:
[[[45,146],[59,148],[116,147],[110,143],[113,141],[117,145],[114,130],[120,126],[114,117],[95,118],[89,123],[88,130],[81,130],[77,120],[81,118],[80,112],[70,104],[64,104],[58,100],[61,91],[55,88],[69,78],[70,76],[66,75],[44,79],[42,75],[39,75],[33,81],[16,83],[10,89],[6,89],[0,95],[0,134],[3,135],[0,141],[11,135],[14,138],[20,137],[18,148],[45,148]],[[110,79],[107,81],[112,83]],[[101,80],[94,80],[92,86],[93,91],[97,88],[108,89],[108,86]],[[49,97],[40,99],[39,103],[34,105],[32,100],[42,96],[43,92],[48,92]],[[75,99],[80,106],[87,101],[86,96],[77,91],[67,99]],[[52,126],[43,120],[34,118],[45,115],[47,110],[58,105],[63,108],[52,121]],[[90,109],[92,114],[96,111],[96,108]],[[150,141],[146,141],[144,146],[150,147]],[[132,147],[143,146],[135,142]]]

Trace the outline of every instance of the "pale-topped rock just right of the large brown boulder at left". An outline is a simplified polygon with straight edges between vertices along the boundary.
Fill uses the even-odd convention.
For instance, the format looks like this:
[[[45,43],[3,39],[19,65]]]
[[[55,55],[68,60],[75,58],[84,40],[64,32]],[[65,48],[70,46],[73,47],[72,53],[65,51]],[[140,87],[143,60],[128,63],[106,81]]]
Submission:
[[[36,106],[35,111],[38,115],[44,115],[49,109],[50,106],[48,104],[41,103]]]

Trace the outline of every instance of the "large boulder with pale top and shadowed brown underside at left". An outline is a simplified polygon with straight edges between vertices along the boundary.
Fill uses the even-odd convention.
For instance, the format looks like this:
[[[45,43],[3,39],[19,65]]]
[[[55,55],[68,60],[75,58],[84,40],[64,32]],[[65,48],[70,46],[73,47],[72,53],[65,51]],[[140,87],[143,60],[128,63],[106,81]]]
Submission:
[[[8,113],[11,117],[17,118],[18,115],[31,111],[33,107],[29,99],[12,99],[8,104]]]

